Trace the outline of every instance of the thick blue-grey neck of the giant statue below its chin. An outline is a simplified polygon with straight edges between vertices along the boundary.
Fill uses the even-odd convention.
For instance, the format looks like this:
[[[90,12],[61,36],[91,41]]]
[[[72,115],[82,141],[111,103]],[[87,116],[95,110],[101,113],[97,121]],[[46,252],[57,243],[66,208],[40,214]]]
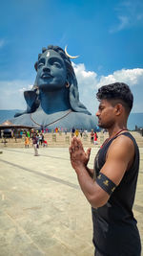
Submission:
[[[40,91],[40,108],[47,114],[70,109],[69,91],[65,88],[56,91]]]

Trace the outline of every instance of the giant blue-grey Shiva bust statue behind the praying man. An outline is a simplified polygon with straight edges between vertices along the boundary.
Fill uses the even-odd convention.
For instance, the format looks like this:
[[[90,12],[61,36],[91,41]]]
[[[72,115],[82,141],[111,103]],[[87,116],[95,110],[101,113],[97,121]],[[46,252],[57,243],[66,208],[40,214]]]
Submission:
[[[94,129],[96,117],[79,101],[72,58],[58,46],[42,49],[34,67],[37,76],[31,90],[24,92],[27,110],[10,120],[33,128]]]

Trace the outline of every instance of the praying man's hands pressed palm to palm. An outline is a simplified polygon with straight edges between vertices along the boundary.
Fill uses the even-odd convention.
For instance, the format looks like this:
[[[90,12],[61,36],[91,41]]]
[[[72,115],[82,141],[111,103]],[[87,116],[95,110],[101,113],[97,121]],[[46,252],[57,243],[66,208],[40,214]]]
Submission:
[[[69,151],[71,155],[72,168],[75,171],[81,167],[87,167],[87,164],[90,160],[91,149],[88,149],[85,152],[80,139],[76,137],[72,138],[72,145],[69,148]]]

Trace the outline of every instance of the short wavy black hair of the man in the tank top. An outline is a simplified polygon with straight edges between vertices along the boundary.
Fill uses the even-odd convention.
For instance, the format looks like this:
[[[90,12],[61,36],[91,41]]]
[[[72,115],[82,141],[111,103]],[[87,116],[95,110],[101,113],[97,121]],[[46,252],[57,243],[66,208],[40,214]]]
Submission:
[[[133,93],[128,84],[124,82],[114,82],[100,87],[96,98],[99,102],[101,100],[109,100],[115,104],[120,103],[124,105],[128,113],[130,113],[133,108]]]

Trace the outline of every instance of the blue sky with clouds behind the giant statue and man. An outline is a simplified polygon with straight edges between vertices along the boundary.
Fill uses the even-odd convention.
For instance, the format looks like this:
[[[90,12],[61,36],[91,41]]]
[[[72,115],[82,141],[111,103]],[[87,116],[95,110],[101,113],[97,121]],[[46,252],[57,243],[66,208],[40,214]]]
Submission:
[[[103,84],[127,82],[133,112],[143,112],[142,0],[5,0],[0,22],[0,109],[25,109],[23,91],[49,44],[79,55],[73,66],[80,101],[94,114]]]

